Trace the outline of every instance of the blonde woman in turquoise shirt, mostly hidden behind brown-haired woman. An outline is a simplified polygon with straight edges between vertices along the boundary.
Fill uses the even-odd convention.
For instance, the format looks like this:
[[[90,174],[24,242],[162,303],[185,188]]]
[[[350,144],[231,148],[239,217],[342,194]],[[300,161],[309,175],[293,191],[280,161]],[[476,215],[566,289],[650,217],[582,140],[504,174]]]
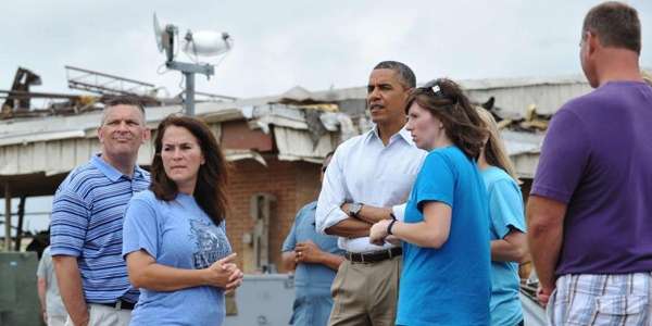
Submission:
[[[496,120],[481,108],[478,114],[489,133],[478,167],[487,186],[491,218],[491,325],[523,325],[518,263],[528,258],[523,196]]]

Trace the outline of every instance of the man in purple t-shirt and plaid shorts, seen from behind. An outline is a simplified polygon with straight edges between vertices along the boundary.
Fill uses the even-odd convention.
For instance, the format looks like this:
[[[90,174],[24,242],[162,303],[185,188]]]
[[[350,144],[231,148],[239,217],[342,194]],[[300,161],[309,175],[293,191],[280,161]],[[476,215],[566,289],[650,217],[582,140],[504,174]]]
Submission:
[[[579,57],[595,90],[552,118],[527,205],[550,325],[652,322],[652,87],[640,50],[634,8],[589,11]]]

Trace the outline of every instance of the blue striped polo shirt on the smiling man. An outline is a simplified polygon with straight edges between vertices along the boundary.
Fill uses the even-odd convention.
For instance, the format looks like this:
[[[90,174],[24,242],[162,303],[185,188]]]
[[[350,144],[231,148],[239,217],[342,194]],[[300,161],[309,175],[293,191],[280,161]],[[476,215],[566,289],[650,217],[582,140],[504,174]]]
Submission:
[[[100,158],[73,170],[52,203],[52,255],[76,256],[86,301],[138,301],[122,258],[123,218],[134,193],[149,187],[138,166],[130,178]]]

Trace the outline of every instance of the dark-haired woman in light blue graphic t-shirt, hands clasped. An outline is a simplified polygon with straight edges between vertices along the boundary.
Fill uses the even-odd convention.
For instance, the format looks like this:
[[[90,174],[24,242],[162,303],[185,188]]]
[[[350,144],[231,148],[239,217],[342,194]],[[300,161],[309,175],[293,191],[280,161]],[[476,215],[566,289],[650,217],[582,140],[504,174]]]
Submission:
[[[129,280],[140,288],[130,325],[222,325],[224,293],[242,272],[226,237],[226,160],[205,124],[171,115],[154,140],[152,184],[123,228]]]

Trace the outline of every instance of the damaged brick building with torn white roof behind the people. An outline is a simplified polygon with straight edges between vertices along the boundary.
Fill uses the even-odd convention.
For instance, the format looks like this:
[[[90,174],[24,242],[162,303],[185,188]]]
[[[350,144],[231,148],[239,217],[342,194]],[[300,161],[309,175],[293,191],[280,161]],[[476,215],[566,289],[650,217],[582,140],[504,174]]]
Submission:
[[[524,195],[531,185],[550,116],[568,99],[590,90],[579,76],[461,85],[500,121]],[[281,265],[280,247],[294,214],[317,197],[324,155],[372,126],[365,97],[365,87],[314,92],[294,87],[274,97],[197,103],[197,116],[210,125],[233,164],[227,233],[246,273],[274,272]],[[50,110],[29,116],[14,110],[12,115],[15,108],[5,109],[0,120],[2,196],[24,201],[53,195],[72,168],[99,151],[101,102],[65,114]],[[152,103],[146,108],[148,127],[155,129],[166,115],[181,110],[180,103]],[[138,164],[148,167],[152,154],[148,142]]]

